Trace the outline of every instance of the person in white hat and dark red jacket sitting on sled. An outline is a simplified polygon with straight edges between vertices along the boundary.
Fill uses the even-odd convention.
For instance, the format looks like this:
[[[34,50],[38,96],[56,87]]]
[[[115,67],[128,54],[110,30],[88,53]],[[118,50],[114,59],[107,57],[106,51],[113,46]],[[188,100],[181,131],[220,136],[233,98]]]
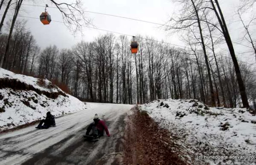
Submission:
[[[99,137],[102,137],[104,135],[104,130],[106,132],[106,135],[108,137],[110,136],[106,123],[99,119],[98,114],[94,115],[93,121],[94,122],[88,126],[86,135],[84,135],[84,137],[93,137],[94,140],[98,140]],[[92,131],[91,134],[90,131]]]

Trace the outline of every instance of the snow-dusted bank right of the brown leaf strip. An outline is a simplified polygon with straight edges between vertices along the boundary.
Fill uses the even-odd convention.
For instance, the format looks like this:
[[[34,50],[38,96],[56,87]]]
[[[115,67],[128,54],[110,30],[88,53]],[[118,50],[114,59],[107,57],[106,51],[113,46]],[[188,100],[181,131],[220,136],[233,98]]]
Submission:
[[[246,109],[208,107],[192,99],[158,100],[139,108],[178,135],[200,164],[256,164],[256,116]]]

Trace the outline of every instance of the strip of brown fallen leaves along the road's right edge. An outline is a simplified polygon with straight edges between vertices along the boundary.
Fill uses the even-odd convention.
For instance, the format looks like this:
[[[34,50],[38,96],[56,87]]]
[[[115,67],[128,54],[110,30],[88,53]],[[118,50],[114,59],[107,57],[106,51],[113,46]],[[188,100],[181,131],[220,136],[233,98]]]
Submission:
[[[187,165],[185,153],[170,139],[169,131],[159,128],[146,111],[133,109],[125,127],[124,164],[129,165]],[[176,150],[177,149],[177,150]]]

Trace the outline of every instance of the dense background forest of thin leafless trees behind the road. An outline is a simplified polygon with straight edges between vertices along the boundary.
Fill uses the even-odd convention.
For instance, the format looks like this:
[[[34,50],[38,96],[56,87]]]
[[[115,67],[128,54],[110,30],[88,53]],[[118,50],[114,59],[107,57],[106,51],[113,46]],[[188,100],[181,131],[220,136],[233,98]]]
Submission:
[[[20,30],[22,29],[23,30]],[[1,35],[1,53],[7,35]],[[212,94],[204,53],[175,48],[154,38],[138,38],[138,53],[131,54],[131,38],[106,34],[71,49],[56,46],[39,49],[33,36],[18,23],[8,54],[8,70],[44,77],[68,87],[70,94],[90,101],[145,103],[154,99],[193,98],[211,104]],[[217,56],[217,55],[216,55]],[[218,106],[242,106],[232,60],[218,56],[209,60]],[[255,72],[240,63],[249,101],[255,103]]]

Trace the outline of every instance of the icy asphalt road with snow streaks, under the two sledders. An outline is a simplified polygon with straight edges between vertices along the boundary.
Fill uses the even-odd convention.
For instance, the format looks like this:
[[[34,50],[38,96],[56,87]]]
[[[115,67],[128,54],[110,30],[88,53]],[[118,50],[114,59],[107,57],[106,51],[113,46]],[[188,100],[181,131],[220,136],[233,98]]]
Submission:
[[[133,105],[88,103],[89,109],[56,119],[56,127],[35,125],[0,134],[1,165],[86,165],[120,164],[124,118]],[[106,120],[111,137],[84,141],[93,116]]]

